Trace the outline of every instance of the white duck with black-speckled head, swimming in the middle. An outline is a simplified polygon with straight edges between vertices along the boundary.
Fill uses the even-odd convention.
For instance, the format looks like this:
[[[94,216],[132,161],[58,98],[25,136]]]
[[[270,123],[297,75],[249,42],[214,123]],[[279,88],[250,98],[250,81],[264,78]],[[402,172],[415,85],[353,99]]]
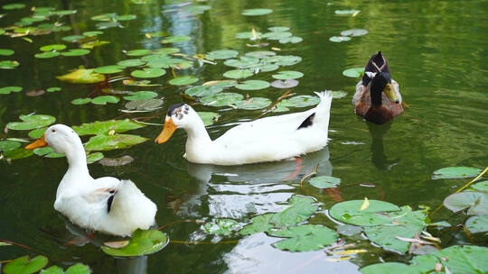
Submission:
[[[312,109],[240,123],[213,141],[192,106],[172,105],[155,142],[167,142],[182,128],[188,135],[183,157],[193,163],[233,166],[294,159],[328,142],[332,91],[315,94],[320,103]]]

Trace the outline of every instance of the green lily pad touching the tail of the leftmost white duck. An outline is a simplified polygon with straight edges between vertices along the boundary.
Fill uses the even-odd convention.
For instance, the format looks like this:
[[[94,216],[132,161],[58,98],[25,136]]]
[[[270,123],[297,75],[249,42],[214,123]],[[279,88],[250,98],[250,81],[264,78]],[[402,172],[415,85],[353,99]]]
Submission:
[[[111,256],[134,257],[153,254],[161,251],[167,244],[168,238],[158,230],[136,230],[130,242],[120,249],[102,245],[102,251]]]

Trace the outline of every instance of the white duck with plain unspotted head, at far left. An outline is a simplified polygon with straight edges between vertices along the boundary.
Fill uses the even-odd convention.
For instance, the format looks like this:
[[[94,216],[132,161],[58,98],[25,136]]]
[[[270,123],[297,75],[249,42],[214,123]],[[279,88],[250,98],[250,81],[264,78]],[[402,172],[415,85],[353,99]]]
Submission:
[[[68,171],[56,191],[54,209],[70,222],[89,231],[116,236],[130,236],[136,229],[146,230],[155,224],[155,203],[131,180],[89,175],[80,136],[69,126],[52,125],[25,149],[47,145],[64,153],[68,160]]]

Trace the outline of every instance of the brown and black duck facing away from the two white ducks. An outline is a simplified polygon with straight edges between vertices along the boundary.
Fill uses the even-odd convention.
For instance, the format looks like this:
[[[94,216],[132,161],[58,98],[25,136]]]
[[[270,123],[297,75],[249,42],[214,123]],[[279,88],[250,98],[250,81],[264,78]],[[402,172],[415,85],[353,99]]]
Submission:
[[[382,124],[403,112],[399,83],[389,75],[389,63],[381,51],[374,53],[352,96],[354,112],[366,121]]]

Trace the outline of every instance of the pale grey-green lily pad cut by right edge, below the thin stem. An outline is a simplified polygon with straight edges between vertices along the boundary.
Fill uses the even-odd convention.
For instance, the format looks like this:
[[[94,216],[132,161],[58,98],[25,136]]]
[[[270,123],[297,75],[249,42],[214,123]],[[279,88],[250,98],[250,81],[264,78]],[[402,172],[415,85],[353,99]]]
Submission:
[[[444,206],[453,212],[468,208],[468,215],[485,215],[488,213],[488,193],[477,191],[463,191],[444,199]]]

